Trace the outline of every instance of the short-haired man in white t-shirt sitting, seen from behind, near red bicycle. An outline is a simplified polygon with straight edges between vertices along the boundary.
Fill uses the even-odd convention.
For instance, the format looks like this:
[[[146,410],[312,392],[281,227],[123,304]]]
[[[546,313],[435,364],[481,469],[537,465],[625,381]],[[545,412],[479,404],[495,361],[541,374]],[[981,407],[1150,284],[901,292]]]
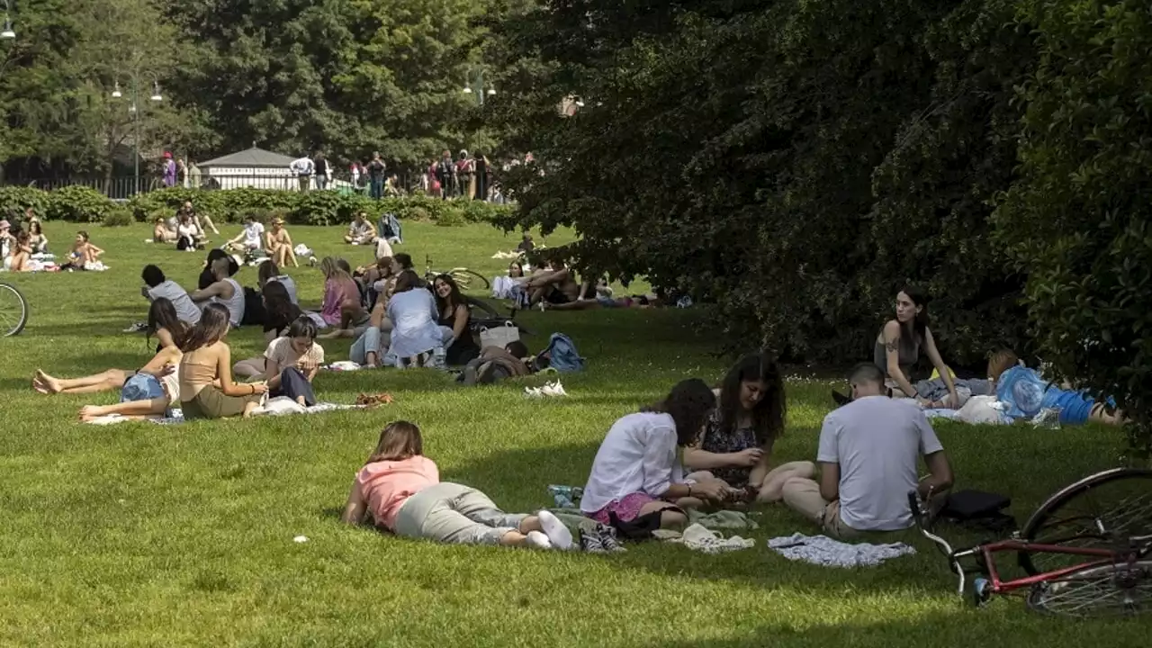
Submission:
[[[819,483],[793,477],[783,499],[833,537],[912,526],[908,493],[927,499],[952,488],[952,468],[927,417],[912,399],[888,398],[884,372],[858,366],[852,401],[824,419],[816,460]],[[918,480],[924,457],[929,475]]]

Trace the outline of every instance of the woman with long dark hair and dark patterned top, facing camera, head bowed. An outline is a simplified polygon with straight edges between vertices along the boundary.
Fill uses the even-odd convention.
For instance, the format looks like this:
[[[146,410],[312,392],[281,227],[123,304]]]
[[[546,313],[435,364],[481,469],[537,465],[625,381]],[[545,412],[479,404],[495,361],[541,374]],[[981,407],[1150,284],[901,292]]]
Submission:
[[[758,502],[779,502],[786,481],[816,474],[811,461],[768,468],[772,446],[785,431],[785,382],[774,360],[764,354],[744,356],[713,393],[719,407],[699,440],[684,449],[687,469],[710,470],[742,489],[745,499]]]

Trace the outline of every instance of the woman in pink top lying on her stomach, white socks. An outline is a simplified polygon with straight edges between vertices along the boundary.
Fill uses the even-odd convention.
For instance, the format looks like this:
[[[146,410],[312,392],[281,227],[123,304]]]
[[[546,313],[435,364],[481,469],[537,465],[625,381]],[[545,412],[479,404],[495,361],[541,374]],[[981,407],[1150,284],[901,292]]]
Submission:
[[[371,517],[401,537],[449,544],[569,549],[571,532],[555,515],[505,513],[486,495],[441,482],[435,462],[424,457],[420,429],[408,421],[388,423],[376,450],[353,480],[341,521],[362,525]]]

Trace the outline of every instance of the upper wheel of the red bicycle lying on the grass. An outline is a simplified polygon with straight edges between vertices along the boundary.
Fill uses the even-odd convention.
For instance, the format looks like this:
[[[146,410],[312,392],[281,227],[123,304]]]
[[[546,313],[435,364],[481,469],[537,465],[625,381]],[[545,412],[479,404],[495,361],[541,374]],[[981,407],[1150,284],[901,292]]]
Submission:
[[[1040,505],[1020,532],[1029,542],[1124,549],[1152,535],[1152,470],[1113,468],[1063,488]],[[1084,556],[1021,551],[1020,566],[1038,574],[1090,560]]]

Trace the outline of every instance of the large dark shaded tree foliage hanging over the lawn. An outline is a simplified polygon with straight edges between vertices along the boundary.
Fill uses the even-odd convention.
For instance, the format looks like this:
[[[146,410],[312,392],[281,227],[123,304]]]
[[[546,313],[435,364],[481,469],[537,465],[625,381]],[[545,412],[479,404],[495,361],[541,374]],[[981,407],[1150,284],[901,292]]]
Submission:
[[[949,360],[1020,346],[1022,278],[987,224],[1034,61],[1008,5],[550,3],[503,32],[510,60],[551,65],[505,113],[548,160],[518,179],[521,224],[712,297],[742,346],[866,357],[908,281]],[[563,119],[567,96],[584,107]]]

